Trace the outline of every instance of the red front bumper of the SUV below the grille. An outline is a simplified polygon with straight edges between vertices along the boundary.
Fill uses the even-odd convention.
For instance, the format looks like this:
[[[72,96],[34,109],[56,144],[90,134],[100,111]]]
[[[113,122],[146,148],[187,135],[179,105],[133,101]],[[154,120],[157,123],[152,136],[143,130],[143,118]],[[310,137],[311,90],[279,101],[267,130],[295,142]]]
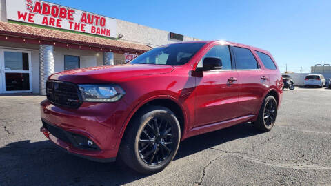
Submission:
[[[41,102],[41,132],[70,154],[92,161],[114,161],[125,108],[125,104],[118,102],[83,103],[78,109],[70,109],[46,100]],[[72,135],[92,141],[93,148],[80,146]]]

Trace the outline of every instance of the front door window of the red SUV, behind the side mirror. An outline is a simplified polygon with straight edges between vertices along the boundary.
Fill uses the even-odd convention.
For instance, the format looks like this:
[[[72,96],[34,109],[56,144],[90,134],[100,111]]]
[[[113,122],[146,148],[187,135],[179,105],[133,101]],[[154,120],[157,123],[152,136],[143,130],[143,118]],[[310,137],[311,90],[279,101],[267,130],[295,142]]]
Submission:
[[[218,57],[222,60],[223,68],[224,70],[232,69],[232,63],[231,63],[231,56],[230,56],[230,49],[227,45],[216,45],[213,48],[211,48],[205,56],[199,61],[198,67],[203,66],[203,59],[206,57]]]

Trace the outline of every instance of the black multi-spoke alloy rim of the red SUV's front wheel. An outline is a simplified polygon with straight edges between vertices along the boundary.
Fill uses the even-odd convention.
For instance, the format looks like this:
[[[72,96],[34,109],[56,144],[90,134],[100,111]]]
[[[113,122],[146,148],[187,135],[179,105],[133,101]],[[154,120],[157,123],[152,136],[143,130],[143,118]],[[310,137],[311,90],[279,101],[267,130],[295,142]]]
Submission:
[[[139,137],[139,155],[148,165],[159,165],[174,150],[168,118],[157,116],[146,123]]]

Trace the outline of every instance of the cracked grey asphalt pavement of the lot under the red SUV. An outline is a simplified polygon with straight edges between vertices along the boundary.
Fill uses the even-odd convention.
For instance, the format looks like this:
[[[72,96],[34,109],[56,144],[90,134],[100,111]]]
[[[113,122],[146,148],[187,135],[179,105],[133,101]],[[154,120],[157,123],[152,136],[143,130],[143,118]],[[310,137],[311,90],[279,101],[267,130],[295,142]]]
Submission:
[[[285,90],[271,132],[250,123],[183,141],[144,176],[62,152],[39,132],[44,96],[0,96],[0,185],[331,185],[331,90]]]

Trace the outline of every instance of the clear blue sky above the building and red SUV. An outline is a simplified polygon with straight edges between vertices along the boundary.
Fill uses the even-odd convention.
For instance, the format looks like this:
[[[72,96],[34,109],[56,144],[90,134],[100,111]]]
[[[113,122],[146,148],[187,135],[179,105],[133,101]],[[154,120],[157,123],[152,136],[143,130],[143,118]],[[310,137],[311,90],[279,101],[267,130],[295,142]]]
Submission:
[[[281,71],[331,63],[331,1],[48,0],[203,40],[268,50]]]

